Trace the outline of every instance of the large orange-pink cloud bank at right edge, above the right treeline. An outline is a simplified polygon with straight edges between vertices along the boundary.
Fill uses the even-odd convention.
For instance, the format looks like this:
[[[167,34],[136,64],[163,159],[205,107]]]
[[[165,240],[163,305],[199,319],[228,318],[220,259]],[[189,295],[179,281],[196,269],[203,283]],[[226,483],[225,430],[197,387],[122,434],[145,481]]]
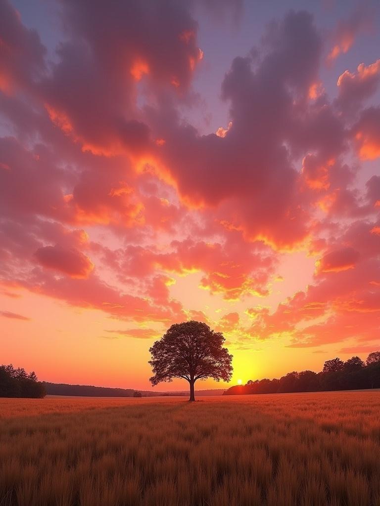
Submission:
[[[356,221],[325,245],[313,283],[275,311],[252,308],[256,339],[282,336],[290,348],[312,348],[378,338],[380,324],[380,236],[374,222]],[[326,247],[327,246],[327,247]],[[352,268],[354,267],[354,268]]]

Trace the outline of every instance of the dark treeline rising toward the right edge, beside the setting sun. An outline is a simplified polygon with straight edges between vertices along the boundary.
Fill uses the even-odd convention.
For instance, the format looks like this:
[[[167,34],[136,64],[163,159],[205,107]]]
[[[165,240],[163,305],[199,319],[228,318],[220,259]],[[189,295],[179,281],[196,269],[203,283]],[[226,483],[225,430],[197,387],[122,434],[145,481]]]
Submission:
[[[280,379],[250,379],[246,385],[231,387],[223,395],[281,394],[329,390],[362,390],[380,388],[380,351],[370,353],[364,363],[359,357],[346,362],[327,360],[321,372],[288,372]]]

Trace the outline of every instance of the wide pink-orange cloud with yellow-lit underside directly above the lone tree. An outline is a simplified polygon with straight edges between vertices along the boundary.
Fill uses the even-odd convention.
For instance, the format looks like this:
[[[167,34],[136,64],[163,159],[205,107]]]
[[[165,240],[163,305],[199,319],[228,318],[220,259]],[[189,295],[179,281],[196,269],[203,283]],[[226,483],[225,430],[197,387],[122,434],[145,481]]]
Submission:
[[[276,264],[269,248],[260,243],[247,245],[236,232],[227,234],[223,242],[188,238],[172,241],[171,250],[167,252],[129,246],[121,255],[120,268],[128,276],[152,275],[158,268],[169,275],[200,271],[204,274],[201,287],[220,293],[227,300],[237,300],[248,294],[261,297],[268,294],[267,285]],[[160,289],[166,291],[167,287]]]

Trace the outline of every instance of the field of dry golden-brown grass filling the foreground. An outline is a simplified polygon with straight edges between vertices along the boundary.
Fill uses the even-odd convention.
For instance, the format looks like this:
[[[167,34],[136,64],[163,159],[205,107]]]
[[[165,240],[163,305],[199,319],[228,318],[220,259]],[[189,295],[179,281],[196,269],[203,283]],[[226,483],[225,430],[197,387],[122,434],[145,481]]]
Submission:
[[[0,399],[0,505],[380,505],[380,392]]]

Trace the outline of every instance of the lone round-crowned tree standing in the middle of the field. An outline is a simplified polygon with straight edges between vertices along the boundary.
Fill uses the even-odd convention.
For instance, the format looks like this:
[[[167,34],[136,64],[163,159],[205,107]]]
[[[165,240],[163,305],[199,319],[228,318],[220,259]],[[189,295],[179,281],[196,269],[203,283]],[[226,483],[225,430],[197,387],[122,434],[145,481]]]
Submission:
[[[227,382],[232,376],[232,355],[223,348],[224,337],[206,323],[187,321],[172,325],[160,341],[149,349],[154,375],[149,379],[155,386],[183,378],[190,384],[190,401],[195,401],[197,379],[211,377]]]

